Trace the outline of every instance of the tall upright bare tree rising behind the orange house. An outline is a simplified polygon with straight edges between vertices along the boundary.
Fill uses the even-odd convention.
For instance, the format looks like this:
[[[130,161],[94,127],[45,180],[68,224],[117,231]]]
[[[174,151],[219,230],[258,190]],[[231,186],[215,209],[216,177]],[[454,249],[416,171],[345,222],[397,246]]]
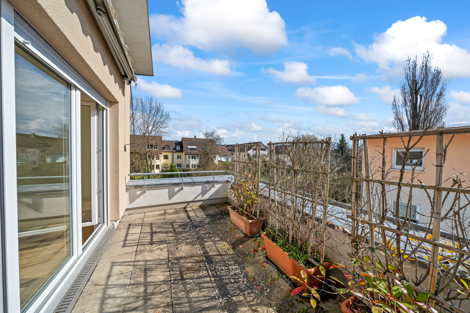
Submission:
[[[447,85],[441,82],[441,70],[431,68],[431,59],[427,51],[419,67],[417,57],[405,61],[405,83],[392,101],[393,126],[398,131],[437,128],[443,124],[448,108]]]

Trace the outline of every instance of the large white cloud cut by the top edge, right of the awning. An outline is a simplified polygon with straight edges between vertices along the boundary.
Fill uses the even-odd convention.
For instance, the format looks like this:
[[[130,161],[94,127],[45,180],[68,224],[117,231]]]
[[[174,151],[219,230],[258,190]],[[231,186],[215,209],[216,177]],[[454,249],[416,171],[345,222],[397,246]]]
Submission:
[[[288,43],[281,15],[266,0],[182,0],[180,11],[182,17],[150,15],[152,37],[202,50],[242,46],[256,53]]]

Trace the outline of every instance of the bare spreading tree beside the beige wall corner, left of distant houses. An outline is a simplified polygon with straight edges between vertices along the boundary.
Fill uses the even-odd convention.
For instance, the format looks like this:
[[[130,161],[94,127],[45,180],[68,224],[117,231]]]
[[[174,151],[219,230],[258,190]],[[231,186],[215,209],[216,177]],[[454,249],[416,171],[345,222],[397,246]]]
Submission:
[[[135,134],[143,139],[145,153],[142,157],[151,172],[151,160],[159,153],[154,147],[157,145],[157,136],[172,134],[170,123],[172,118],[164,105],[151,96],[133,97],[134,111],[131,112],[131,128],[134,123]],[[161,147],[159,147],[161,149]],[[143,150],[143,149],[142,149]]]

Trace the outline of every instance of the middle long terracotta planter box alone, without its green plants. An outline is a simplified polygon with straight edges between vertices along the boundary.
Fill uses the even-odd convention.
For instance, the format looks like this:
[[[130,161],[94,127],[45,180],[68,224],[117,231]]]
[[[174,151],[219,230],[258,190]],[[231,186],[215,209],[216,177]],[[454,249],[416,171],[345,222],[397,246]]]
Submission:
[[[261,237],[265,241],[266,253],[269,259],[271,259],[282,271],[288,276],[296,276],[302,279],[301,271],[304,270],[307,273],[307,285],[310,287],[321,287],[321,283],[323,282],[324,278],[320,278],[320,280],[314,278],[318,275],[322,276],[320,268],[318,266],[313,268],[305,268],[298,265],[298,261],[294,259],[289,259],[289,255],[287,252],[282,250],[280,247],[274,244],[268,237],[264,234],[261,234]],[[323,267],[327,270],[333,263],[324,262]],[[296,282],[294,280],[294,282]],[[299,282],[296,282],[299,284]],[[308,288],[304,288],[305,292],[309,292]]]

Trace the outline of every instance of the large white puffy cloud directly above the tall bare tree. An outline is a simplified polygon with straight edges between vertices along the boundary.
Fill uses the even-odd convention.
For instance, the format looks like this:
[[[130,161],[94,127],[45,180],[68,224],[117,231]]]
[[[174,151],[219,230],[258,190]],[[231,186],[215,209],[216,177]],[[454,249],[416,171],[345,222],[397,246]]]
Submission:
[[[433,67],[442,70],[444,78],[470,77],[470,53],[456,45],[442,44],[447,26],[439,20],[426,22],[415,16],[398,21],[374,38],[368,47],[354,43],[356,53],[366,62],[376,62],[379,69],[401,74],[403,62],[429,50]],[[419,61],[418,61],[419,62]]]

